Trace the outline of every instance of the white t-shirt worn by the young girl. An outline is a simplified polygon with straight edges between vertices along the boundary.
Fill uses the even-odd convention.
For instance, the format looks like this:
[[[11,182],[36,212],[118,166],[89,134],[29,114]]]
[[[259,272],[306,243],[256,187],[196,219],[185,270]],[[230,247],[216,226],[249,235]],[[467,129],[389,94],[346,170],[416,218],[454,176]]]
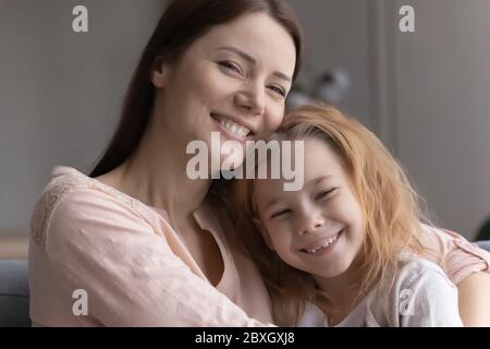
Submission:
[[[336,327],[460,327],[457,288],[434,263],[408,252],[390,289],[390,273]],[[328,327],[314,304],[306,306],[299,327]]]

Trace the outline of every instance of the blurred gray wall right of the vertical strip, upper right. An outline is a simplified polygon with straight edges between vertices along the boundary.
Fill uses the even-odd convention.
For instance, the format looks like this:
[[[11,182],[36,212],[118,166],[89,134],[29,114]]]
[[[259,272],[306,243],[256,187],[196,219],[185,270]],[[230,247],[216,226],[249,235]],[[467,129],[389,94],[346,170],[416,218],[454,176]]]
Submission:
[[[396,149],[448,228],[471,237],[490,216],[490,1],[394,1],[416,10],[396,34]]]

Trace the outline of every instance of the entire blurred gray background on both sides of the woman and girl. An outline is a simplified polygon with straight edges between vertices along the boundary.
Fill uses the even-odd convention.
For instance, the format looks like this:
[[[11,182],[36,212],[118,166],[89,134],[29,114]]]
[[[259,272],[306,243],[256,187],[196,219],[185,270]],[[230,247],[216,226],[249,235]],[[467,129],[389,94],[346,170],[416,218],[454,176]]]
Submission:
[[[306,57],[289,105],[320,99],[357,118],[400,159],[436,222],[476,239],[490,209],[490,1],[290,3]],[[53,166],[96,164],[164,8],[84,0],[89,32],[75,34],[76,4],[0,0],[0,258],[26,254]],[[415,33],[399,29],[404,4]]]

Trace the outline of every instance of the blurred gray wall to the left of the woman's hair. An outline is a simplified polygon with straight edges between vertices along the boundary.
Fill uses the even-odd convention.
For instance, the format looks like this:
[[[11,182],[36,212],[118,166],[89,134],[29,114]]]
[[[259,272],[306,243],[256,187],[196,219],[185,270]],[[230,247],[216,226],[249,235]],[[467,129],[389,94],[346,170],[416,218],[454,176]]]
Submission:
[[[54,165],[95,165],[164,2],[0,0],[0,233],[26,231]]]

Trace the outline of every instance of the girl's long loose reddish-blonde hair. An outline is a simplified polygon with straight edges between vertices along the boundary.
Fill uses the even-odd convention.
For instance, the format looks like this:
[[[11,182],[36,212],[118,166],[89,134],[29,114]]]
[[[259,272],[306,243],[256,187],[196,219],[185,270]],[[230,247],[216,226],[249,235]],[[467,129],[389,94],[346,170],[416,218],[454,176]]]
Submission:
[[[396,269],[402,250],[419,254],[421,220],[419,198],[401,166],[376,135],[359,122],[344,117],[327,105],[303,106],[287,112],[271,139],[320,139],[341,159],[362,208],[366,238],[356,256],[357,297],[351,309],[373,289],[388,270]],[[253,224],[258,217],[254,198],[254,180],[235,180],[231,207],[241,229],[245,249],[256,262],[272,299],[279,325],[295,325],[306,301],[321,309],[332,309],[328,296],[315,287],[313,277],[280,260],[265,243]]]

